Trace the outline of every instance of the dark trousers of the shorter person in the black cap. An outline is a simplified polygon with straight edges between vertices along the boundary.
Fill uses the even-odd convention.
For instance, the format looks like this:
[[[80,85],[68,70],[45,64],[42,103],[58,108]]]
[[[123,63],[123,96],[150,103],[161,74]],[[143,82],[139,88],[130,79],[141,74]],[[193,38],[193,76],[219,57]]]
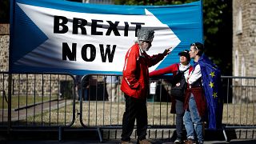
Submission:
[[[182,128],[183,128],[183,115],[184,115],[184,108],[183,102],[176,99],[175,100],[175,109],[176,109],[176,133],[177,139],[182,140]]]

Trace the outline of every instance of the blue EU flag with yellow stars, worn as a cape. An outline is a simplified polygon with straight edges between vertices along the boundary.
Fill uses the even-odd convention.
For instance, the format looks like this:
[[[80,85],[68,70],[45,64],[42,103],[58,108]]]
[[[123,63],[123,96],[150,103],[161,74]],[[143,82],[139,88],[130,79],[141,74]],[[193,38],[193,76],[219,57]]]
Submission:
[[[205,55],[199,58],[198,63],[202,72],[203,89],[207,101],[208,128],[216,130],[222,126],[222,79],[217,66]]]

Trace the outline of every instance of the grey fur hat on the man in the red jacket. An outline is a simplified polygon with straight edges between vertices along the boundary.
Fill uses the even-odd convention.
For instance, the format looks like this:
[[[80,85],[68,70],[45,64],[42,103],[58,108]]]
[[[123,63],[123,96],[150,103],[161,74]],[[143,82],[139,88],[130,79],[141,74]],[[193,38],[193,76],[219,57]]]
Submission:
[[[152,42],[154,38],[154,30],[152,29],[138,29],[137,36],[139,41]]]

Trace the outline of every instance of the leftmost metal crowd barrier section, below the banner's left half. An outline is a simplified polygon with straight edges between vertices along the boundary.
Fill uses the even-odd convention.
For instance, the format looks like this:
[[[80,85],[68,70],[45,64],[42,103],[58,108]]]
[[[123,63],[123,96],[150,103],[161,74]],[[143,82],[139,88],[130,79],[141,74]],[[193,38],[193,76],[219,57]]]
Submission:
[[[0,129],[58,130],[75,118],[74,76],[0,73]]]

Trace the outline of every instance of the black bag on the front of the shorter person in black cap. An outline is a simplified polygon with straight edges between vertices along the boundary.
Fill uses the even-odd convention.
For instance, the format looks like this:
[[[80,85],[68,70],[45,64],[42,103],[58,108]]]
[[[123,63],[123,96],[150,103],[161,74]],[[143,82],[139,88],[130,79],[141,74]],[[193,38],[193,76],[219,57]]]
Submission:
[[[177,67],[178,67],[178,64],[177,64]],[[188,67],[186,70],[189,70],[189,69],[190,68]],[[174,76],[173,81],[172,81],[172,87],[170,90],[170,95],[173,98],[181,100],[181,101],[183,101],[185,98],[185,90],[186,90],[186,86],[187,86],[186,79],[184,77],[184,73],[186,70],[180,71],[178,69],[178,74],[176,74]]]

